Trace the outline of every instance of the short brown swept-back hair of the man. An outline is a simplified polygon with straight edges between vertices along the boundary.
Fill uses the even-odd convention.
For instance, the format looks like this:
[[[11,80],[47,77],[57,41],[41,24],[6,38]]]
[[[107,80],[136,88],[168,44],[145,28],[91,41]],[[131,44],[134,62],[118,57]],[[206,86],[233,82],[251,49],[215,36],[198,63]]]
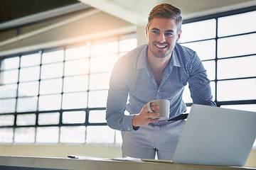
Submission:
[[[149,22],[153,18],[173,18],[176,20],[178,32],[181,31],[182,16],[181,10],[171,4],[159,4],[155,6],[149,13],[148,23],[146,27],[149,29]]]

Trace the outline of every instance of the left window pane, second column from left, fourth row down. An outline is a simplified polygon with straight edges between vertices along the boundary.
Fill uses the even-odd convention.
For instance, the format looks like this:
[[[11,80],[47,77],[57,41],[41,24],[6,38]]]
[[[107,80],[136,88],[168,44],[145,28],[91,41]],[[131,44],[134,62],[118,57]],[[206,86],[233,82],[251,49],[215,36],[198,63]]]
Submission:
[[[36,111],[37,110],[38,97],[26,97],[18,98],[17,111]]]

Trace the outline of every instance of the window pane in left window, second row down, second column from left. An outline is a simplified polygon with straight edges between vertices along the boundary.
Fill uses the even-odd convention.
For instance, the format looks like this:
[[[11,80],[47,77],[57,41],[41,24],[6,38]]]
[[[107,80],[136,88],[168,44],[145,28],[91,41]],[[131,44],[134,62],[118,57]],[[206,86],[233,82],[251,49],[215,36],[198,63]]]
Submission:
[[[40,67],[28,67],[20,70],[19,81],[32,81],[39,79]]]

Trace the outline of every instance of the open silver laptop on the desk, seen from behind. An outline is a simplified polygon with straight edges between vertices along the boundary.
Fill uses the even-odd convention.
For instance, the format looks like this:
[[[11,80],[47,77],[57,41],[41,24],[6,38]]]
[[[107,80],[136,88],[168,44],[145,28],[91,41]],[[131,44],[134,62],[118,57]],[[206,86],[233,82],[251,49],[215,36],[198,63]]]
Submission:
[[[245,166],[255,137],[255,112],[193,105],[172,162]]]

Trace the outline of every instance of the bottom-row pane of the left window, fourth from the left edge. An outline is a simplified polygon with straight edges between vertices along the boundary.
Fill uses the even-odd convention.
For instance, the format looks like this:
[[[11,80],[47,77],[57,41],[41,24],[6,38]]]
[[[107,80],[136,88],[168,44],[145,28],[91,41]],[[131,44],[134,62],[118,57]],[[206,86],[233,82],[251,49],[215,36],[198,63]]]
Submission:
[[[60,142],[85,143],[85,126],[61,127]]]

